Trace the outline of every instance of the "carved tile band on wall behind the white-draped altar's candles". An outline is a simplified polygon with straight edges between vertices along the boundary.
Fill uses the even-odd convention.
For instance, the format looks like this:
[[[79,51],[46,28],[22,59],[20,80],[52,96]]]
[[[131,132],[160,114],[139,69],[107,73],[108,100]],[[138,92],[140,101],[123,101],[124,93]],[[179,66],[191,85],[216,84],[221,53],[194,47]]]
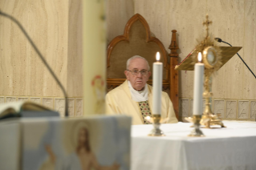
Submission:
[[[203,111],[205,100],[203,101]],[[256,120],[256,100],[212,99],[212,111],[221,119]],[[181,119],[193,115],[193,99],[180,99]]]

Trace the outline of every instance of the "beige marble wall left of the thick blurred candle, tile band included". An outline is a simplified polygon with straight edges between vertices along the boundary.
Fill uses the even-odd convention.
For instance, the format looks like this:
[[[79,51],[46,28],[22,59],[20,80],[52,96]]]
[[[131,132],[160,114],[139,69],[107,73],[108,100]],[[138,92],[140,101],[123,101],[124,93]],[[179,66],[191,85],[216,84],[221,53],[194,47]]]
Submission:
[[[82,20],[80,0],[2,0],[0,9],[17,18],[67,89],[71,114],[81,113]],[[0,102],[28,99],[63,113],[64,99],[18,26],[0,17]]]

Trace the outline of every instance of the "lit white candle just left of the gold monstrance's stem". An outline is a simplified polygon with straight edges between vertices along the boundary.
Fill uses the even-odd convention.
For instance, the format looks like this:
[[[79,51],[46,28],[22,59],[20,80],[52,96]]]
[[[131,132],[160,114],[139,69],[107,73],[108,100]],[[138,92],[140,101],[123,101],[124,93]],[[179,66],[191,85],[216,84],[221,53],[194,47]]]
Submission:
[[[201,52],[198,54],[198,62],[199,63],[195,64],[195,75],[193,80],[193,115],[202,114],[205,64],[201,63]]]

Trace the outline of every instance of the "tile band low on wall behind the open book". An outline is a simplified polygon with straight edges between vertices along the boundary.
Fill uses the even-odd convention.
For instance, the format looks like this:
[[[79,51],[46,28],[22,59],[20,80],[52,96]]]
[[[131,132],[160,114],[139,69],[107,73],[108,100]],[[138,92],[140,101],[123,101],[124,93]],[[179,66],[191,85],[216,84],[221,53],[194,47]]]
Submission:
[[[51,110],[59,111],[59,115],[64,116],[65,99],[59,97],[28,97],[28,96],[0,96],[0,103],[14,101],[30,101],[49,107]],[[68,98],[68,115],[71,117],[83,115],[83,99]]]

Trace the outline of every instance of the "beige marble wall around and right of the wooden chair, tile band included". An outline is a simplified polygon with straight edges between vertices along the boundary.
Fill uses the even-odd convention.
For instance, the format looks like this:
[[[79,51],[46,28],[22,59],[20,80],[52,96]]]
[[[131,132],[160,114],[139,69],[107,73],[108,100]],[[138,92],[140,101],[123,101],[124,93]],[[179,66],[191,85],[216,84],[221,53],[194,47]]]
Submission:
[[[255,0],[108,0],[108,42],[123,33],[128,18],[136,13],[148,21],[152,33],[168,52],[171,30],[177,30],[180,60],[197,45],[196,39],[204,35],[201,23],[208,13],[213,21],[209,27],[213,37],[243,47],[239,54],[256,73]],[[180,71],[180,75],[180,111],[187,116],[192,114],[193,71]],[[235,55],[213,76],[213,110],[227,119],[254,118],[255,84],[254,76]]]

